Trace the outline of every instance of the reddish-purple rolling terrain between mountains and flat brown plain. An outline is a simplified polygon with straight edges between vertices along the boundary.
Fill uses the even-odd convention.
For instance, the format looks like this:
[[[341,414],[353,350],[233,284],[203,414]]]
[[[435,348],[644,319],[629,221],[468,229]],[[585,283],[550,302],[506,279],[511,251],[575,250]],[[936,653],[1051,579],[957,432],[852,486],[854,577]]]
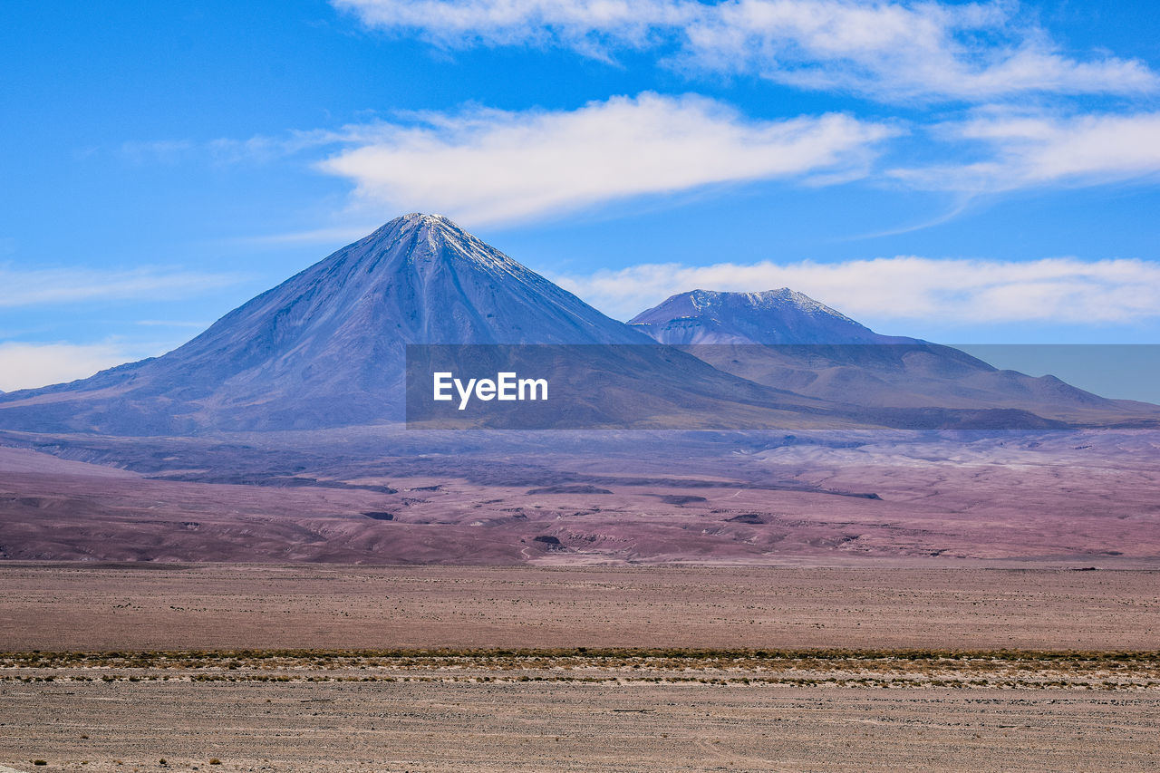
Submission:
[[[274,476],[246,472],[242,456],[231,471],[230,449],[187,462],[162,447],[130,458],[139,471],[129,472],[0,448],[0,557],[1099,566],[1160,557],[1154,431],[920,441],[873,433],[846,445],[718,446],[715,455],[654,450],[520,447],[517,458],[534,463],[502,446],[378,458],[360,450],[358,461],[307,458]]]

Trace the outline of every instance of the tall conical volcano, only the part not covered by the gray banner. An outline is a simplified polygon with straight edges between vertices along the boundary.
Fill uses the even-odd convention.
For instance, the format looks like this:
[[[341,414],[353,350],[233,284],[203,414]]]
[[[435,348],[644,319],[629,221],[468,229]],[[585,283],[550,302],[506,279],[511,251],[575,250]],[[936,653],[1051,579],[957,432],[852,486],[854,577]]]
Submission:
[[[405,215],[160,357],[5,396],[0,426],[182,435],[401,419],[408,344],[648,344],[438,215]]]

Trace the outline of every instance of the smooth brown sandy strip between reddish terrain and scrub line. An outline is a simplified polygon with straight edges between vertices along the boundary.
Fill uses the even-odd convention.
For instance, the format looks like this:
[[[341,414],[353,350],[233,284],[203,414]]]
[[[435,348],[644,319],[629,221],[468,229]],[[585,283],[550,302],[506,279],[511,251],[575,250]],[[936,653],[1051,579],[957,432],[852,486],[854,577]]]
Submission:
[[[1160,650],[1160,572],[0,563],[0,651]]]

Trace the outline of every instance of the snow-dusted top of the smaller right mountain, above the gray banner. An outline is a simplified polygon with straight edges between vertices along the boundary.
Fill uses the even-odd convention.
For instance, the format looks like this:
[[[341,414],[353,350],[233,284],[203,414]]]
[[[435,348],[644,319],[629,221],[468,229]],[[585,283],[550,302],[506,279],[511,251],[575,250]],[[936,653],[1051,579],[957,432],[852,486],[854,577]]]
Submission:
[[[764,292],[691,290],[629,323],[661,344],[882,344],[846,315],[789,288]]]

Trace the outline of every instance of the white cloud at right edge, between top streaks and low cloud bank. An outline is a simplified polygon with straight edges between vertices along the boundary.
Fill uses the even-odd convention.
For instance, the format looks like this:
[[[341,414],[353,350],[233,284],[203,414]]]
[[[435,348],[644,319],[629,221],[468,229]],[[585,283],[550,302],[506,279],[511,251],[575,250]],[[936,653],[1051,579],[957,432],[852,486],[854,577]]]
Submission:
[[[986,193],[1160,174],[1160,113],[1059,117],[1000,110],[944,124],[938,133],[984,143],[992,157],[974,164],[893,169],[889,175],[919,187]]]

